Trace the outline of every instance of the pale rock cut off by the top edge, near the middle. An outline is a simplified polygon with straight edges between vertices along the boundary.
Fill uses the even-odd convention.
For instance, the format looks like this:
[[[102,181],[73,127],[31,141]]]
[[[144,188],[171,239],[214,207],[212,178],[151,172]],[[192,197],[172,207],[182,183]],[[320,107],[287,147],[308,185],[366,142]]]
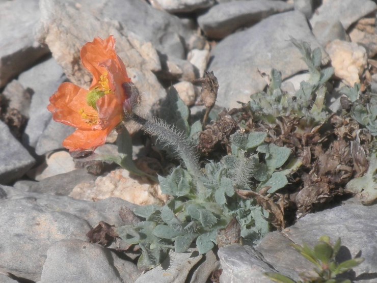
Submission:
[[[155,0],[151,2],[156,9],[163,9],[171,13],[192,12],[214,5],[214,0]]]

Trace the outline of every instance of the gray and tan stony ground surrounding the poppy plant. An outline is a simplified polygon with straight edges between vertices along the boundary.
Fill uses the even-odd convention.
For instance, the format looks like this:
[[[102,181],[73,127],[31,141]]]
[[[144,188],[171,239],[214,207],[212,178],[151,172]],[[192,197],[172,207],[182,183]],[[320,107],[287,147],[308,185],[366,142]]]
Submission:
[[[226,246],[217,256],[172,252],[142,274],[132,254],[119,251],[120,242],[104,248],[87,233],[100,221],[131,223],[126,215],[135,204],[160,204],[166,196],[158,185],[112,165],[75,164],[61,146],[74,129],[51,120],[46,109],[63,81],[88,86],[80,47],[109,35],[143,93],[145,115],[171,85],[200,114],[193,81],[205,70],[219,80],[219,107],[247,102],[266,86],[260,72],[272,68],[294,91],[307,67],[290,38],[320,47],[322,63],[330,62],[338,82],[367,80],[376,92],[377,75],[368,72],[377,65],[376,9],[370,0],[0,0],[0,281],[271,282],[265,271],[298,279],[312,266],[289,244],[314,245],[328,235],[342,238],[344,259],[365,258],[351,279],[376,282],[377,208],[357,199],[308,214],[255,247]],[[339,97],[334,89],[333,111]],[[116,153],[114,140],[98,152]],[[137,134],[134,143],[140,157]],[[218,269],[220,279],[213,273]]]

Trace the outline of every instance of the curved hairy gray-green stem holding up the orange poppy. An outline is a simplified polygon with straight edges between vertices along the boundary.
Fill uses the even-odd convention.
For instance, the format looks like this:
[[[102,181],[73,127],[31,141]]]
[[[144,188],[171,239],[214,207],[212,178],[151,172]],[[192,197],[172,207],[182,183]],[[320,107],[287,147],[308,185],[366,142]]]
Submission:
[[[169,126],[160,119],[150,121],[133,113],[127,118],[142,125],[145,132],[156,136],[157,139],[160,139],[166,146],[172,146],[179,157],[183,160],[187,171],[193,176],[199,190],[198,192],[204,193],[204,185],[199,180],[201,172],[198,156],[195,154],[190,141],[187,140],[182,133],[178,132],[174,127]]]

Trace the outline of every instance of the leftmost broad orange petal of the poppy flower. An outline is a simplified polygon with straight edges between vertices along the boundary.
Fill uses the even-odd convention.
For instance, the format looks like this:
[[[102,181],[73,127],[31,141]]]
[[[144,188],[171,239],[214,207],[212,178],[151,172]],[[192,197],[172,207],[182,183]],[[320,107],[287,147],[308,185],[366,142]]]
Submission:
[[[52,112],[53,120],[82,130],[93,128],[83,119],[80,111],[98,117],[98,113],[87,104],[88,91],[70,82],[60,85],[58,91],[50,97],[47,109]]]

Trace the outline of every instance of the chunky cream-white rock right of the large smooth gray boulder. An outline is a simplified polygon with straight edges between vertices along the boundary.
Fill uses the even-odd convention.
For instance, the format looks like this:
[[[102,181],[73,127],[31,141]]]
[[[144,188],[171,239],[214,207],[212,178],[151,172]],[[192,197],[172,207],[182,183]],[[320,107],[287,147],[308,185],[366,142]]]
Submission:
[[[351,87],[360,82],[360,75],[367,66],[367,53],[364,47],[337,39],[327,45],[326,51],[337,77]]]

